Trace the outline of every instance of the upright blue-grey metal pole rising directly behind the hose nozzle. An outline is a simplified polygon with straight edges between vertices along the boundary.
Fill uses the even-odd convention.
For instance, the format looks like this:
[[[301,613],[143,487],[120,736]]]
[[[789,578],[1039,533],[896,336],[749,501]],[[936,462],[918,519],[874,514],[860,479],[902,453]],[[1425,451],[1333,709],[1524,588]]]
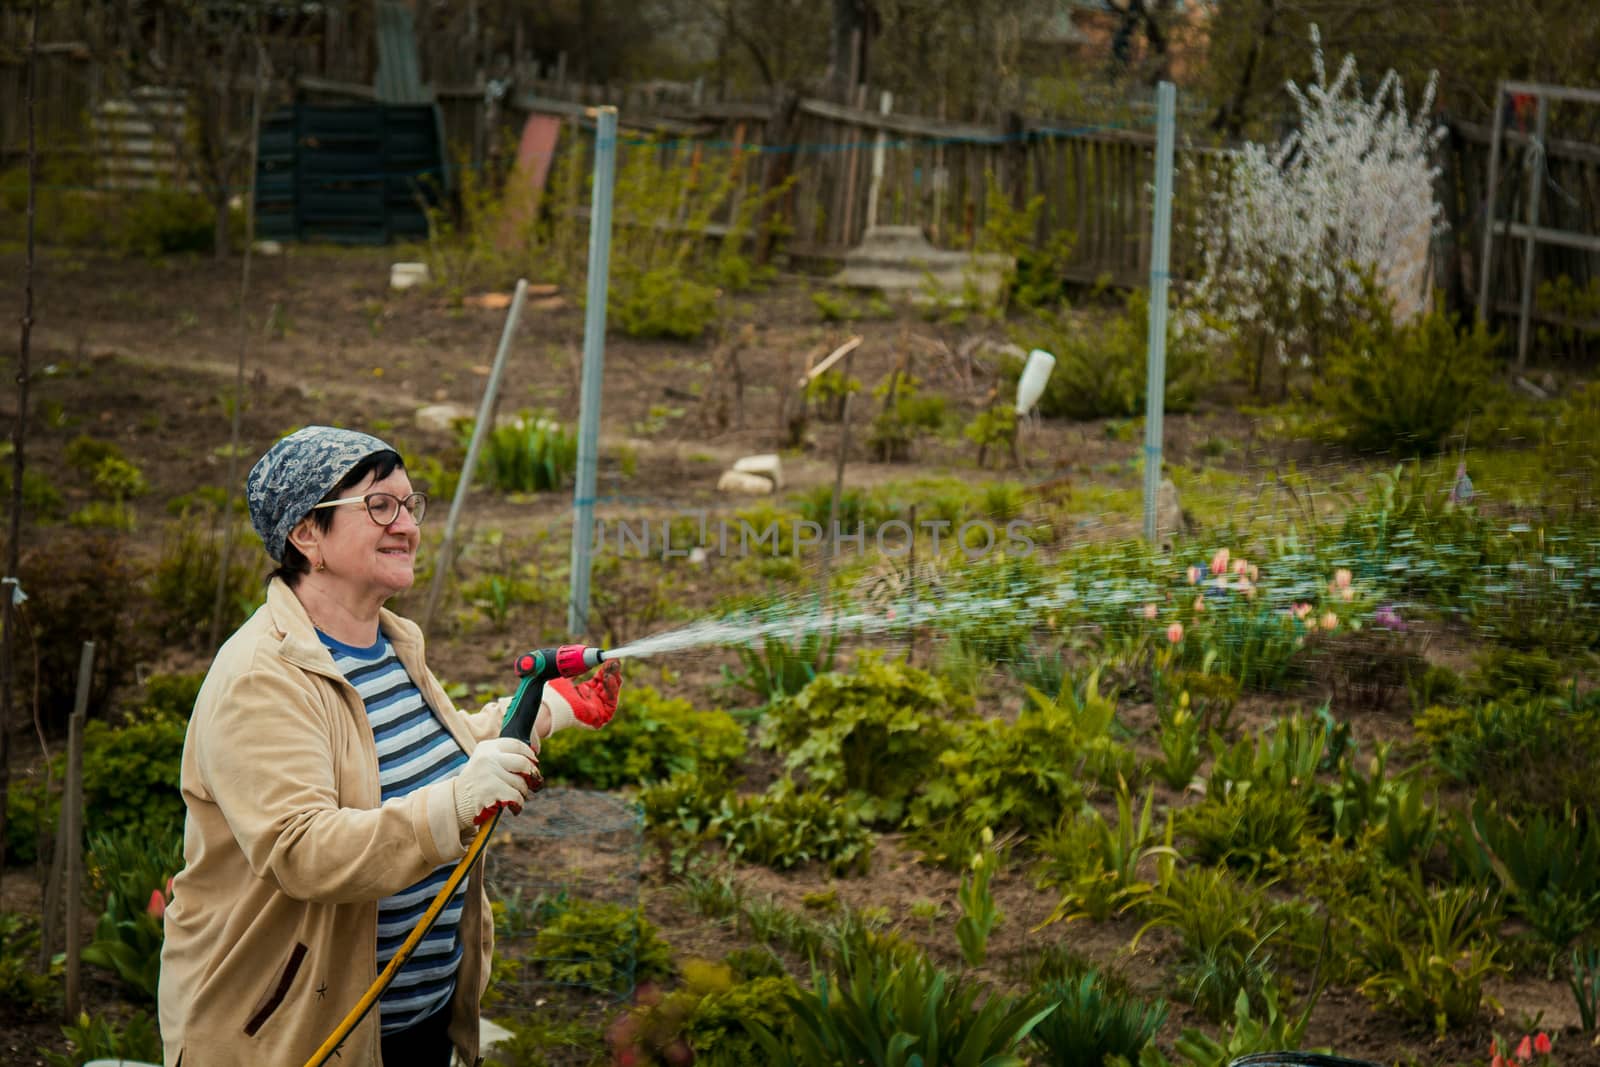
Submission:
[[[566,629],[589,630],[589,565],[600,464],[600,381],[605,368],[605,301],[611,274],[611,186],[616,181],[616,107],[595,109],[595,178],[589,208],[589,291],[584,304],[584,381],[578,416],[578,485],[573,486],[573,574]]]

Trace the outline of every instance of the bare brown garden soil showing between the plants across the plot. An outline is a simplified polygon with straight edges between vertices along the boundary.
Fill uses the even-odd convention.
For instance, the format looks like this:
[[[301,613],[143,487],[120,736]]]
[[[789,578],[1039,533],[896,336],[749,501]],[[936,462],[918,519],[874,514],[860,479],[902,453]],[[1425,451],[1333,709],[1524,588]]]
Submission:
[[[298,426],[334,422],[370,429],[392,438],[408,459],[451,454],[451,450],[459,456],[461,442],[453,432],[422,429],[414,413],[435,403],[453,403],[462,411],[477,408],[504,310],[470,299],[456,304],[437,290],[390,291],[390,258],[386,250],[298,246],[278,256],[256,256],[242,317],[237,259],[139,262],[43,251],[30,358],[29,469],[43,472],[61,493],[64,512],[72,512],[93,499],[93,488],[66,462],[67,445],[82,435],[115,443],[150,485],[147,494],[133,501],[136,522],[122,545],[131,560],[154,566],[166,545],[174,501],[202,488],[222,486],[230,474],[237,498],[248,464]],[[0,306],[21,307],[21,256],[14,250],[0,253]],[[867,390],[858,395],[858,411],[864,414],[854,427],[848,483],[866,486],[947,474],[954,464],[962,464],[954,467],[965,470],[962,477],[971,477],[973,450],[960,440],[926,443],[914,464],[869,462],[861,440],[880,403],[872,398],[870,386],[907,360],[925,390],[944,394],[955,411],[970,418],[989,403],[995,387],[995,357],[978,342],[986,333],[998,341],[998,333],[978,320],[934,323],[912,312],[886,320],[824,323],[810,301],[811,285],[806,278],[786,277],[765,293],[736,298],[742,306],[734,307],[726,338],[742,338],[738,366],[742,398],[715,400],[726,386],[726,370],[718,373],[712,365],[723,339],[693,344],[640,342],[616,334],[608,339],[600,493],[613,501],[613,509],[677,515],[701,507],[730,507],[715,491],[718,474],[742,454],[778,446],[779,403],[808,357],[818,358],[853,333],[866,339],[851,357],[850,373],[866,382]],[[14,371],[14,342],[6,341],[3,347]],[[536,410],[574,424],[581,352],[582,312],[576,294],[555,293],[530,301],[514,338],[498,411]],[[238,458],[230,461],[230,398],[240,354],[245,405]],[[14,405],[14,392],[0,397],[0,414],[8,426]],[[1216,440],[1230,442],[1230,446],[1214,462],[1240,470],[1309,459],[1290,446],[1259,442],[1253,421],[1229,408],[1170,419],[1168,456],[1173,462],[1195,461]],[[787,488],[806,491],[830,485],[837,442],[837,426],[813,422],[805,446],[784,454]],[[1045,486],[1070,499],[1090,482],[1115,477],[1098,472],[1126,470],[1138,446],[1134,435],[1117,422],[1035,424],[1022,434],[1026,470],[997,472],[995,477]],[[1120,485],[1134,486],[1133,478],[1123,474]],[[446,501],[435,499],[429,515],[435,536],[445,514]],[[1136,533],[1128,518],[1106,525],[1088,510],[1082,518],[1074,536]],[[568,498],[506,499],[477,493],[467,501],[461,541],[470,542],[491,530],[504,531],[507,541],[542,536],[565,545]],[[24,526],[22,547],[34,552],[42,544],[77,536],[64,525]],[[258,565],[262,561],[253,539],[242,542],[238,552],[251,555]],[[424,560],[424,571],[427,566]],[[685,561],[662,561],[662,566],[678,568],[675,597],[706,609],[717,603],[715,573],[696,571]],[[397,601],[402,613],[413,616],[421,606],[418,590]],[[542,617],[538,633],[454,627],[435,638],[430,662],[440,677],[469,689],[504,693],[512,685],[509,654],[515,648],[558,640],[558,614],[552,611]],[[642,633],[648,632],[650,621],[618,619],[613,630],[627,625]],[[1442,643],[1438,654],[1448,656],[1446,646],[1448,641]],[[923,653],[933,654],[933,649]],[[150,646],[136,662],[117,664],[118,691],[155,670],[203,670],[208,659],[210,649],[198,640]],[[738,697],[722,685],[725,662],[730,659],[723,654],[707,654],[672,664],[630,664],[629,672],[699,705],[726,705]],[[115,696],[109,705],[115,705]],[[1266,715],[1267,709],[1248,704],[1243,709],[1246,720],[1258,713]],[[1147,705],[1125,709],[1125,715],[1154,718]],[[1379,712],[1370,725],[1381,737],[1405,736],[1403,715]],[[45,734],[50,745],[61,744],[56,731]],[[771,773],[771,757],[765,758],[766,773]],[[38,763],[34,731],[16,731],[13,773],[37,773]],[[523,819],[536,811],[534,806]],[[584,864],[581,837],[562,848],[566,849],[563,862]],[[570,854],[574,848],[579,849],[576,856]],[[618,859],[608,851],[605,862]],[[680,957],[715,960],[750,944],[738,928],[693,912],[672,888],[666,861],[654,849],[640,846],[634,867],[646,913]],[[21,867],[6,870],[0,907],[37,913],[40,893],[34,873]],[[949,966],[958,963],[954,936],[958,875],[918,864],[893,837],[880,840],[870,873],[864,877],[741,869],[738,878],[749,897],[770,896],[802,912],[826,915],[827,907],[837,904],[880,909],[894,931],[920,942],[934,960]],[[981,968],[987,977],[1014,985],[1045,945],[1059,944],[1115,969],[1136,989],[1158,989],[1158,974],[1173,949],[1162,931],[1149,933],[1136,952],[1128,952],[1138,931],[1133,920],[1042,926],[1053,901],[1030,885],[1021,864],[1002,875],[997,902],[1003,921]],[[91,920],[85,923],[88,933]],[[792,963],[798,966],[800,961]],[[1494,1021],[1501,1032],[1531,1019],[1554,1029],[1576,1025],[1571,995],[1562,984],[1520,981],[1494,993],[1502,1006]],[[85,1006],[114,1016],[131,1009],[93,968],[85,968]],[[6,1021],[3,1013],[0,1008],[0,1059],[6,1064],[42,1064],[40,1048],[66,1048],[56,1024]],[[1192,1013],[1176,1008],[1165,1038],[1170,1041],[1182,1025],[1195,1022]],[[1381,1062],[1483,1064],[1490,1025],[1432,1041],[1426,1032],[1376,1014],[1354,990],[1331,989],[1317,1003],[1310,1043],[1333,1045],[1342,1054]],[[1576,1033],[1566,1037],[1558,1051],[1563,1065],[1600,1064],[1600,1053]]]

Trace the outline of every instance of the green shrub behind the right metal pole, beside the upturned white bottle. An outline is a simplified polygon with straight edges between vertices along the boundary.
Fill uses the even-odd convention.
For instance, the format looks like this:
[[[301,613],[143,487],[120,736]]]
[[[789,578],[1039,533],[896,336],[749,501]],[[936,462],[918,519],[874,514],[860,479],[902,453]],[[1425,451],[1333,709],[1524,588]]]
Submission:
[[[1016,330],[1022,349],[1045,349],[1056,357],[1056,368],[1038,398],[1045,418],[1104,419],[1144,414],[1149,378],[1149,301],[1144,290],[1128,293],[1123,312],[1085,326],[1082,314],[1058,309]],[[1205,386],[1210,352],[1192,333],[1179,330],[1181,318],[1168,317],[1166,328],[1166,411],[1194,408]],[[1014,394],[1024,360],[1010,357],[1000,366],[1002,381]]]

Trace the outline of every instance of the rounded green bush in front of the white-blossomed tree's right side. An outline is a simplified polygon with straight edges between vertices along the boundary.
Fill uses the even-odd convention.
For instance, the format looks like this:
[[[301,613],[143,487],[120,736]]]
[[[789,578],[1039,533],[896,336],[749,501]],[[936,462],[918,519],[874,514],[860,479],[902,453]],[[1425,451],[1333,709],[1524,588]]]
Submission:
[[[1333,341],[1318,397],[1355,448],[1432,453],[1483,397],[1498,344],[1440,307],[1402,325],[1374,314]]]

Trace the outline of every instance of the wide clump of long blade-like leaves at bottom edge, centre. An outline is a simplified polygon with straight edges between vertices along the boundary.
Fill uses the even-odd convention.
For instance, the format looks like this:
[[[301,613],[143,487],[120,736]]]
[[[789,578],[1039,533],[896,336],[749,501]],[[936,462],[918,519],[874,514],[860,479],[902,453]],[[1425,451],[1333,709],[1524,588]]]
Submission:
[[[773,1067],[1021,1067],[1018,1045],[1054,1005],[981,992],[922,957],[858,952],[837,981],[819,973],[789,997],[789,1033],[755,1037]]]

